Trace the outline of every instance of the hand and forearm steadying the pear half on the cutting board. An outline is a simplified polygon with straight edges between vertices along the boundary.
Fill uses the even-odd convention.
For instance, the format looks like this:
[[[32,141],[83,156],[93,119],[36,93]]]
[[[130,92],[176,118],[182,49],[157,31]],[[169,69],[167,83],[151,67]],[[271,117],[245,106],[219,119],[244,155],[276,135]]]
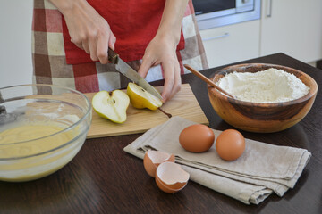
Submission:
[[[163,100],[170,100],[181,89],[180,65],[176,47],[180,41],[182,19],[188,0],[166,0],[157,35],[148,44],[142,64],[138,70],[141,77],[146,77],[151,66],[161,64],[165,72]]]

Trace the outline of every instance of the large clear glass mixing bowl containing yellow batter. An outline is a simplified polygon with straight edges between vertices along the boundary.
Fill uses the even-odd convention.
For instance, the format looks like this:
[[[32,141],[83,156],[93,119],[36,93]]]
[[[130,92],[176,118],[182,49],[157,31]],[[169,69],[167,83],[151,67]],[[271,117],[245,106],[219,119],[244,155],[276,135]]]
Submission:
[[[80,151],[89,99],[63,86],[0,88],[0,180],[30,181],[61,169]]]

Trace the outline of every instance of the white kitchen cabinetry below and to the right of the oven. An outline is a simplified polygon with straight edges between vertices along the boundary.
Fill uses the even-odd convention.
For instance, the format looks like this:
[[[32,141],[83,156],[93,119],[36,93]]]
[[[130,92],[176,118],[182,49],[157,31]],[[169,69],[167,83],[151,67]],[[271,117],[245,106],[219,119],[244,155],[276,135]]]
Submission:
[[[321,0],[262,0],[261,18],[200,30],[210,68],[272,53],[322,59]]]

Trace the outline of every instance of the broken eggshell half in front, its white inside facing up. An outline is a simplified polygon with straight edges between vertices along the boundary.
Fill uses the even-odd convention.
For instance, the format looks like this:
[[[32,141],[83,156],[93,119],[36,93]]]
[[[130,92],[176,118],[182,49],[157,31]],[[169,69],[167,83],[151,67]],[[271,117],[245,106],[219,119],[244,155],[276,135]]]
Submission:
[[[157,167],[156,183],[165,193],[176,193],[187,185],[189,173],[174,162],[163,162]]]

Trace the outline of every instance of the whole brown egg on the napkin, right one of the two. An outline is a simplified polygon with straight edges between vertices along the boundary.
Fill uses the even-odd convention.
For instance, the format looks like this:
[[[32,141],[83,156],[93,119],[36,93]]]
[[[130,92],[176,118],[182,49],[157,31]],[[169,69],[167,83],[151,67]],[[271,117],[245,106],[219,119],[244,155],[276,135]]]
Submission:
[[[216,152],[225,161],[238,159],[244,150],[245,138],[237,130],[227,129],[216,138]]]

